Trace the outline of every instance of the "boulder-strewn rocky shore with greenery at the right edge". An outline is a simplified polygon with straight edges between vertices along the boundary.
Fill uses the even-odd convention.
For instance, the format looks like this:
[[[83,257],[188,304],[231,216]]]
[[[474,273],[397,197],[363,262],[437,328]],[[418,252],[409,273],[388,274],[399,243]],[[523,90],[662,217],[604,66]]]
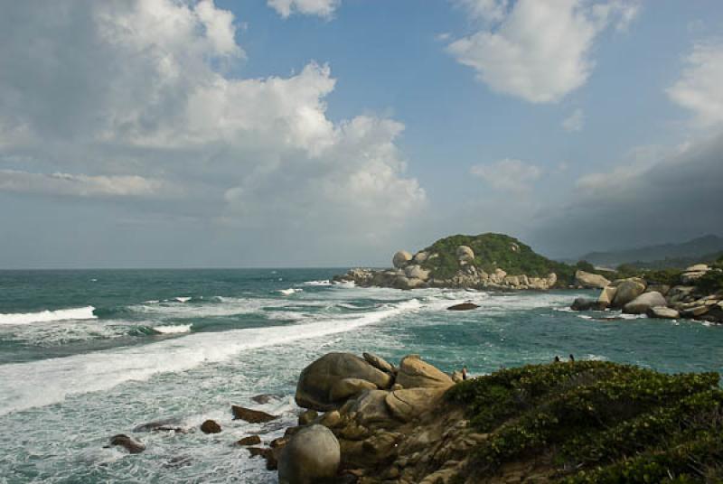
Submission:
[[[723,261],[599,282],[601,291],[596,298],[577,298],[570,307],[576,311],[616,309],[649,318],[723,323]]]

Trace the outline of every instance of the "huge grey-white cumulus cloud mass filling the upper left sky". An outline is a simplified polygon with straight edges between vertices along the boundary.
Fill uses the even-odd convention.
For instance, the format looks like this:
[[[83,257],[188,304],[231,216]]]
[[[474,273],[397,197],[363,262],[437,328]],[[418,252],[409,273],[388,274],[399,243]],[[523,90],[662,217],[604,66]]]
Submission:
[[[294,3],[323,4],[336,5]],[[211,0],[7,5],[0,191],[173,199],[166,209],[278,238],[338,231],[353,241],[372,219],[400,229],[426,203],[396,144],[404,126],[333,122],[328,65],[227,75],[246,55],[236,37],[236,19]]]

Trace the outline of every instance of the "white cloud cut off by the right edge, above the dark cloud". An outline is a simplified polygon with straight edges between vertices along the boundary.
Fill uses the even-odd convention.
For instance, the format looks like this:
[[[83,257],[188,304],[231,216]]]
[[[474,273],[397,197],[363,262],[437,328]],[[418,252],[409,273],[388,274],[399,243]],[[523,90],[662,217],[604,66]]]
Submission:
[[[690,109],[700,126],[723,123],[723,43],[697,43],[685,61],[681,79],[668,88],[668,96]]]

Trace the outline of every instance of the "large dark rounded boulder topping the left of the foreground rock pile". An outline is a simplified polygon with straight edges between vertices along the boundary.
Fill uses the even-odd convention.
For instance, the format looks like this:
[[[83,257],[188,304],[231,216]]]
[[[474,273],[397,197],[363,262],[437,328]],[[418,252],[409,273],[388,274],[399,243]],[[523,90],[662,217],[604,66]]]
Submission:
[[[343,404],[332,398],[332,388],[344,378],[358,378],[378,388],[391,386],[392,377],[351,353],[329,353],[304,368],[296,384],[296,404],[326,412]]]

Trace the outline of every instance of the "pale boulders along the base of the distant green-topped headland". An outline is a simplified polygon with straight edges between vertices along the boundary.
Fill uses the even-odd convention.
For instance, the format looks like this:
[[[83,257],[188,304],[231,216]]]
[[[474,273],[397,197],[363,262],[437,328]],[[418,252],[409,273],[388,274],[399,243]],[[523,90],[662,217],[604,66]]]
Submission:
[[[513,246],[516,245],[513,244]],[[508,275],[499,267],[492,273],[487,273],[474,265],[474,251],[467,246],[457,247],[455,255],[459,270],[449,277],[437,277],[432,271],[425,268],[433,266],[432,261],[439,257],[439,254],[427,254],[427,252],[421,251],[412,256],[406,250],[400,250],[392,257],[394,265],[392,269],[356,268],[345,275],[335,276],[333,280],[340,283],[353,282],[361,287],[394,287],[398,289],[446,287],[538,291],[547,291],[558,282],[558,276],[554,273],[550,273],[546,277]]]

